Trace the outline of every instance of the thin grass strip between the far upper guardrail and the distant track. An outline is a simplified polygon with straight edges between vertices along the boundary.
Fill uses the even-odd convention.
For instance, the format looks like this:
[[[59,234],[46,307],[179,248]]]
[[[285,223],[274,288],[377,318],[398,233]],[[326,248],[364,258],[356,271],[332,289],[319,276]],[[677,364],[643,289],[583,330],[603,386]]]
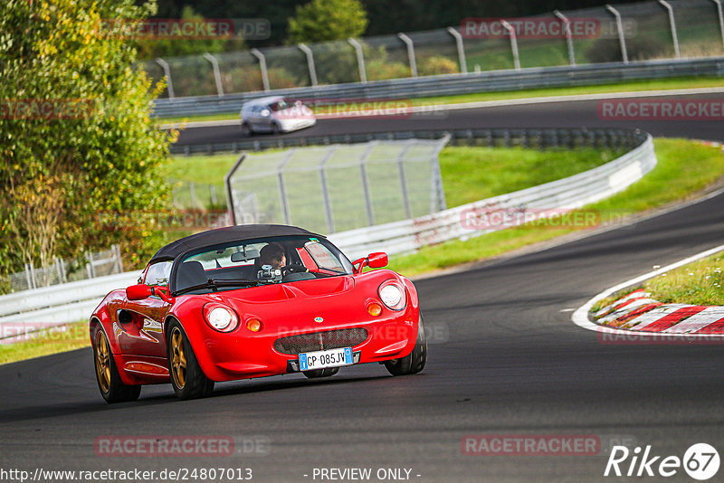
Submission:
[[[430,98],[411,99],[414,106],[435,105],[435,104],[458,104],[465,102],[480,102],[484,100],[503,99],[526,99],[548,96],[568,96],[582,94],[600,94],[606,92],[628,92],[643,90],[672,90],[672,89],[693,89],[707,87],[722,87],[724,80],[720,78],[697,77],[697,78],[672,78],[662,80],[633,80],[616,84],[605,84],[596,86],[578,86],[566,88],[549,88],[534,90],[510,90],[502,92],[479,92],[475,94],[463,94],[458,96],[439,96]],[[187,116],[176,118],[158,118],[158,124],[179,123],[189,121],[208,121],[237,119],[238,113],[220,113],[204,116]]]

